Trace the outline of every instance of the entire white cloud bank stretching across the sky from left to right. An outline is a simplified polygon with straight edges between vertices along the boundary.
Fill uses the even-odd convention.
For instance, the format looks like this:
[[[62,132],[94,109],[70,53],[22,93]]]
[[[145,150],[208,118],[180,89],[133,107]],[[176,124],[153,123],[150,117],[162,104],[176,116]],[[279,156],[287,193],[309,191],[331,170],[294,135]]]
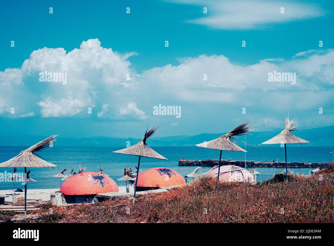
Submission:
[[[0,71],[0,115],[9,115],[13,107],[11,117],[89,117],[91,107],[100,121],[139,121],[149,118],[146,112],[159,103],[182,105],[185,114],[191,111],[185,105],[197,103],[210,105],[206,112],[222,106],[247,106],[253,112],[314,110],[333,102],[334,50],[319,51],[302,51],[284,60],[264,57],[249,66],[233,64],[224,55],[200,55],[139,76],[128,61],[135,53],[118,54],[101,47],[98,39],[83,41],[68,53],[43,48],[33,51],[20,69]],[[295,72],[296,84],[268,82],[274,70]],[[44,71],[66,72],[67,83],[40,82]],[[275,122],[275,117],[263,119],[265,125]]]

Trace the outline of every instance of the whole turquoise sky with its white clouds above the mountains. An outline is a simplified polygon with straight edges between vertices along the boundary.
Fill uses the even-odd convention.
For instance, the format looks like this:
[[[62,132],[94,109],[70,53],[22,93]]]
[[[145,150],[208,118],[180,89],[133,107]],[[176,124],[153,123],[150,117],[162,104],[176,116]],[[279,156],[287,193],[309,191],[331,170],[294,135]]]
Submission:
[[[0,4],[1,135],[270,131],[288,112],[300,129],[334,125],[332,1]]]

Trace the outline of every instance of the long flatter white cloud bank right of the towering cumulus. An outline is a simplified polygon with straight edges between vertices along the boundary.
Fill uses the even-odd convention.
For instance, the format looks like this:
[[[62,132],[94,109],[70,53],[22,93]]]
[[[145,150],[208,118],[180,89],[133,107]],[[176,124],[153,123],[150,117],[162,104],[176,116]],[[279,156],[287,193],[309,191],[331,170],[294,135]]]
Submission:
[[[223,55],[201,55],[181,59],[180,63],[152,68],[141,74],[143,91],[152,92],[150,101],[169,100],[182,105],[185,113],[192,110],[196,116],[218,109],[233,114],[236,107],[241,112],[246,106],[248,113],[251,109],[252,118],[273,118],[271,122],[262,121],[262,126],[273,123],[277,127],[275,122],[281,113],[293,109],[316,111],[320,106],[330,108],[333,103],[334,51],[331,50],[303,59],[270,59],[243,67]],[[274,70],[296,72],[296,84],[268,82],[268,73]],[[207,81],[203,80],[204,74]],[[193,107],[184,107],[183,103],[191,103],[193,107],[205,104],[206,112],[193,111]],[[334,117],[331,118],[334,124]]]

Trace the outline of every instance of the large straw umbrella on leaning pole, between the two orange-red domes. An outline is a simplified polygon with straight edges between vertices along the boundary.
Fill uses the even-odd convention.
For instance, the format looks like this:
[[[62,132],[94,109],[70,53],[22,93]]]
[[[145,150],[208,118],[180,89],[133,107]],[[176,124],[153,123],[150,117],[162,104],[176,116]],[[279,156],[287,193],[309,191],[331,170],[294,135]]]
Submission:
[[[135,184],[135,193],[133,195],[133,203],[135,203],[136,198],[136,189],[137,189],[137,181],[138,181],[138,175],[139,175],[139,165],[140,165],[140,157],[149,157],[149,158],[155,158],[155,159],[161,159],[161,160],[168,160],[162,155],[158,154],[154,150],[152,150],[150,147],[147,146],[146,141],[149,137],[154,135],[158,130],[160,129],[160,126],[153,126],[150,130],[148,128],[146,129],[144,138],[138,143],[133,146],[130,146],[128,148],[113,151],[113,153],[119,153],[119,154],[126,154],[126,155],[135,155],[139,156],[138,159],[138,168],[137,168],[137,175],[136,175],[136,184]]]

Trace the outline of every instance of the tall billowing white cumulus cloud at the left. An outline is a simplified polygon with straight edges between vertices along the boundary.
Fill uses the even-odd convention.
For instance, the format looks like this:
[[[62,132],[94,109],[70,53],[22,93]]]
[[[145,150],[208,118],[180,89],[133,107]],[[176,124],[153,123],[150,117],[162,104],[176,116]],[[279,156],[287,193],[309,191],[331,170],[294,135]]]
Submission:
[[[63,48],[35,50],[20,69],[0,71],[0,114],[14,107],[22,115],[33,109],[42,117],[66,117],[88,107],[120,105],[121,97],[127,98],[137,83],[128,60],[132,55],[136,53],[103,48],[97,38],[68,53]],[[62,74],[67,81],[45,80],[44,73]]]

